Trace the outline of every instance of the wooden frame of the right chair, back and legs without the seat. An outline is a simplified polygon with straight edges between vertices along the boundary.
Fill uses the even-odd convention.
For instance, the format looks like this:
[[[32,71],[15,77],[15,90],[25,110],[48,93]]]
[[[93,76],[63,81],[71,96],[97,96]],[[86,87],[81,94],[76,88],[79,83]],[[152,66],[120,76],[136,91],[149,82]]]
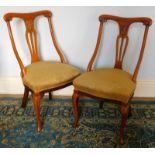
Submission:
[[[116,39],[116,59],[115,59],[115,66],[114,66],[114,68],[118,68],[118,69],[123,69],[122,63],[123,63],[124,55],[126,53],[126,49],[127,49],[128,42],[129,42],[128,30],[129,30],[130,25],[132,23],[138,22],[138,23],[142,23],[145,26],[144,36],[143,36],[143,41],[142,41],[142,45],[141,45],[141,50],[140,50],[138,62],[137,62],[137,65],[135,67],[135,70],[134,70],[134,73],[132,76],[132,80],[134,82],[136,82],[137,74],[138,74],[140,64],[141,64],[143,54],[144,54],[148,30],[149,30],[150,25],[152,24],[152,20],[150,18],[147,18],[147,17],[123,18],[123,17],[118,17],[118,16],[112,16],[112,15],[101,15],[99,17],[100,27],[99,27],[99,32],[98,32],[97,43],[96,43],[96,47],[95,47],[94,53],[92,55],[92,58],[90,59],[90,62],[88,64],[87,71],[89,72],[92,70],[92,66],[93,66],[94,60],[98,54],[100,43],[101,43],[103,23],[107,22],[108,20],[115,21],[119,26],[119,35],[117,36],[117,39]],[[120,40],[121,40],[121,43],[120,43],[120,48],[119,48],[119,41]],[[123,49],[124,41],[125,41],[125,46]],[[99,98],[97,96],[93,96],[93,95],[81,92],[80,90],[78,90],[75,87],[74,93],[72,96],[72,99],[73,99],[73,115],[74,115],[73,127],[74,128],[76,128],[76,126],[78,124],[78,120],[79,120],[78,99],[80,96],[83,96],[83,95],[99,99],[100,100],[100,108],[102,108],[102,106],[103,106],[103,101],[107,100],[104,98]],[[131,107],[129,106],[128,103],[121,103],[121,102],[114,101],[114,100],[108,100],[108,101],[112,101],[112,102],[120,105],[120,112],[122,115],[122,121],[121,121],[121,127],[120,127],[120,140],[119,141],[120,141],[120,144],[123,144],[124,143],[124,128],[126,125],[127,117],[129,115],[129,113],[131,112]]]

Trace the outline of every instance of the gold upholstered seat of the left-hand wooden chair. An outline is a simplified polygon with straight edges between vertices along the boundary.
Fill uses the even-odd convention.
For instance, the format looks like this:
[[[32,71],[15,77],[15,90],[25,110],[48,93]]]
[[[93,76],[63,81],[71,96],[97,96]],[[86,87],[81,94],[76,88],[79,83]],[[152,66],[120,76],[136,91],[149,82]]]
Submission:
[[[80,70],[61,62],[39,61],[26,67],[23,83],[34,92],[63,86],[80,74]]]

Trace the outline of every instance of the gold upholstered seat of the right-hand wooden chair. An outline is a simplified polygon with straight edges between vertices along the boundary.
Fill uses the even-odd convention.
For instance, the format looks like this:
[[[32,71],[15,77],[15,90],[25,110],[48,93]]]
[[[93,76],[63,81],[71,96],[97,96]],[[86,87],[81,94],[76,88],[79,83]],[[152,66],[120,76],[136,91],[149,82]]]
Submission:
[[[73,81],[76,90],[127,103],[135,90],[132,76],[120,69],[101,68],[84,73]]]

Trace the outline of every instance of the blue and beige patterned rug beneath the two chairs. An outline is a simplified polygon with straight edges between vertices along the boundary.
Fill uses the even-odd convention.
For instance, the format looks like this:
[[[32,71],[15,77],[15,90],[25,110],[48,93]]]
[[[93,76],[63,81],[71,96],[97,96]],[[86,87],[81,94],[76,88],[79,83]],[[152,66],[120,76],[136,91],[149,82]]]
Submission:
[[[132,101],[132,116],[125,129],[125,144],[118,144],[118,106],[96,100],[79,100],[80,121],[72,128],[70,98],[42,100],[43,130],[36,132],[32,101],[23,110],[21,98],[0,98],[0,147],[107,148],[155,147],[155,102]]]

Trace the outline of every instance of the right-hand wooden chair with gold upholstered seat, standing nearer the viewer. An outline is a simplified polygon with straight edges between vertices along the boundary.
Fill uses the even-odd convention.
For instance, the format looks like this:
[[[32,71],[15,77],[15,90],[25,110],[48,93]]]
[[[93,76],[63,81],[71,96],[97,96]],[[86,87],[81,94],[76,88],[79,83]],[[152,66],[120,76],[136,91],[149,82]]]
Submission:
[[[108,20],[115,21],[119,26],[119,34],[116,38],[116,58],[114,68],[100,68],[92,70],[92,65],[99,51],[101,43],[103,23]],[[74,123],[73,127],[77,126],[79,120],[78,113],[78,99],[81,95],[96,98],[101,100],[100,107],[103,106],[103,101],[108,100],[120,105],[120,112],[122,115],[120,127],[120,144],[124,143],[124,127],[130,110],[128,101],[133,96],[136,77],[144,54],[147,34],[149,26],[152,24],[150,18],[122,18],[111,15],[101,15],[99,17],[100,27],[98,32],[97,44],[92,58],[87,67],[87,72],[80,75],[73,81],[74,94],[73,94],[73,114]],[[142,23],[145,27],[140,55],[133,75],[123,71],[122,63],[128,46],[128,30],[133,23]],[[119,46],[120,45],[120,46]]]

